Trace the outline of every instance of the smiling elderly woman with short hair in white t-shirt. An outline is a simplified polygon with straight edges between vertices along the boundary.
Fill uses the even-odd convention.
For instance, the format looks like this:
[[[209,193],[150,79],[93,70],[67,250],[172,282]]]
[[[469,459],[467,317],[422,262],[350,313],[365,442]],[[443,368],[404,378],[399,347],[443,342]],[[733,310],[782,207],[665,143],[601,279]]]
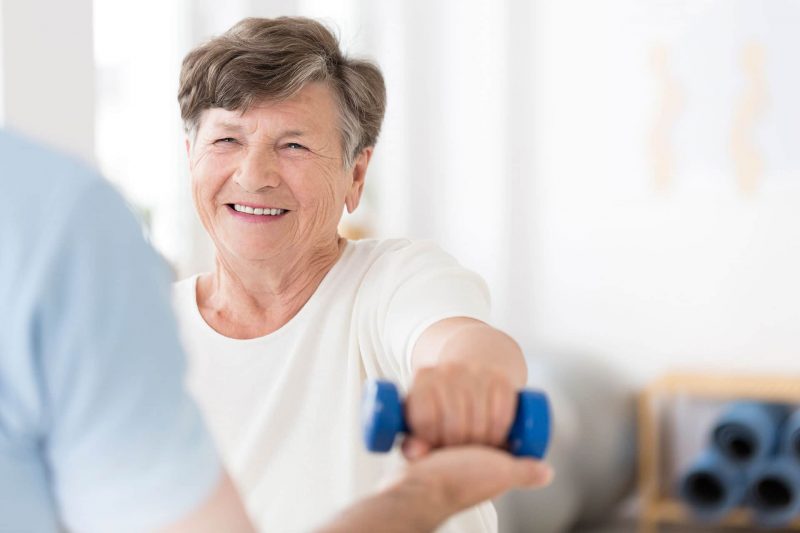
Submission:
[[[176,284],[189,386],[256,523],[305,531],[402,457],[363,449],[366,378],[408,392],[403,454],[501,445],[526,382],[484,282],[429,243],[350,242],[383,119],[372,64],[321,24],[246,19],[190,52],[179,102],[213,272]],[[491,504],[447,531],[494,531]]]

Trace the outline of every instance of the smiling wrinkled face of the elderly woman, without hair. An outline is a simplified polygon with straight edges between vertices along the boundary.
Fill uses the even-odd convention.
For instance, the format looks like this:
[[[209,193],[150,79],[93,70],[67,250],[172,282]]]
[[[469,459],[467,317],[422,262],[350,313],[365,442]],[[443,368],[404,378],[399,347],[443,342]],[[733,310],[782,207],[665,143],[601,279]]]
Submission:
[[[258,260],[337,242],[342,208],[358,205],[371,155],[345,169],[338,124],[323,83],[245,113],[204,111],[187,150],[195,207],[218,252]]]

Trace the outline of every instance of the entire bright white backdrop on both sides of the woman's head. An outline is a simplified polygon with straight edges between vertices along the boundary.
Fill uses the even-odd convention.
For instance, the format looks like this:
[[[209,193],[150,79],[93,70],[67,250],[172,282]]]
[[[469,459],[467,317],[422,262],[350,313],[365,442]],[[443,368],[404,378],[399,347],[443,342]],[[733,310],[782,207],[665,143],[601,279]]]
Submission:
[[[179,277],[208,270],[180,62],[279,15],[386,78],[342,231],[437,241],[529,352],[638,384],[800,370],[800,2],[0,0],[0,122],[97,165]]]

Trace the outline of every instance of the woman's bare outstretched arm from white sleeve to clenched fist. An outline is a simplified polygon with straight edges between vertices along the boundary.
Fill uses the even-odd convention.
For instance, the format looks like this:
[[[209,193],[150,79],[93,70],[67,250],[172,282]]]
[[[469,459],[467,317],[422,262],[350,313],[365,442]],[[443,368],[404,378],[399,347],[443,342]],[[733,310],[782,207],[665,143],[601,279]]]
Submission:
[[[411,362],[407,457],[440,446],[504,444],[528,375],[514,339],[479,320],[448,318],[422,333]]]

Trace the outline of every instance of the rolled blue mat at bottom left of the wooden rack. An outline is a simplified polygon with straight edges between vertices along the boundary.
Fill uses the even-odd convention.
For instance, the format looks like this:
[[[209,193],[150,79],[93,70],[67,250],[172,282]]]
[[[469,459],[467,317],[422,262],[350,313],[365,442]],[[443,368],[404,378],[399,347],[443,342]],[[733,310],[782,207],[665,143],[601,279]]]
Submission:
[[[679,481],[681,499],[698,519],[716,522],[745,500],[747,476],[718,450],[705,450]]]

